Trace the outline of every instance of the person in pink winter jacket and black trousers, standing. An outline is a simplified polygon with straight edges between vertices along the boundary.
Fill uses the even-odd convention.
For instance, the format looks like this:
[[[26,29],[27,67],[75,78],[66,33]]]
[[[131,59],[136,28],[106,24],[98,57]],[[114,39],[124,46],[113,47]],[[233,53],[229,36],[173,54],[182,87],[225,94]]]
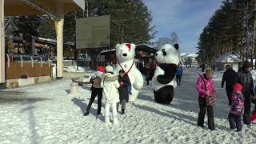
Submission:
[[[207,106],[206,97],[214,94],[213,72],[210,68],[206,69],[206,73],[200,75],[197,82],[197,90],[199,93],[198,102],[200,112],[198,114],[198,126],[204,127],[204,118],[207,108],[208,127],[210,130],[215,130],[214,127],[214,108]]]

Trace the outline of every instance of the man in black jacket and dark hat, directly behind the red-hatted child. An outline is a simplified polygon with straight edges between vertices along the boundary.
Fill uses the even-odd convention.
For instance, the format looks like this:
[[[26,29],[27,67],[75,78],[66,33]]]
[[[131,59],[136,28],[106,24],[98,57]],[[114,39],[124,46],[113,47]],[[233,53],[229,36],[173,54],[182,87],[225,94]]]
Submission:
[[[243,113],[243,122],[246,125],[250,125],[250,102],[251,96],[254,96],[254,82],[250,74],[251,65],[249,61],[243,63],[242,69],[238,70],[237,82],[242,85],[242,94],[245,97],[244,102],[244,113]]]

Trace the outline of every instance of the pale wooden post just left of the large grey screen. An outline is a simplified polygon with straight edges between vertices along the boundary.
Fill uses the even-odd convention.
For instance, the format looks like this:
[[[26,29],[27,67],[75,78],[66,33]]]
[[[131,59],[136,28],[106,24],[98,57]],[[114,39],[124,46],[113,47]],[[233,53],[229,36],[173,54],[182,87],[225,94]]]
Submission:
[[[64,18],[54,21],[57,35],[57,78],[63,78],[63,25]]]

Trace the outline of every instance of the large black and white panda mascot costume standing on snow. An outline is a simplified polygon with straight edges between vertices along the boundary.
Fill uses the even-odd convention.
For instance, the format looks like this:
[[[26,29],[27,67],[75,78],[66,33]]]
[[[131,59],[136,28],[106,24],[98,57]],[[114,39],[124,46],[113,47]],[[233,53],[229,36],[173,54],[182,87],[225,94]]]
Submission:
[[[175,76],[180,62],[178,43],[161,46],[156,52],[155,58],[158,66],[156,66],[154,77],[152,78],[154,101],[170,104],[174,98],[174,88],[177,86]]]

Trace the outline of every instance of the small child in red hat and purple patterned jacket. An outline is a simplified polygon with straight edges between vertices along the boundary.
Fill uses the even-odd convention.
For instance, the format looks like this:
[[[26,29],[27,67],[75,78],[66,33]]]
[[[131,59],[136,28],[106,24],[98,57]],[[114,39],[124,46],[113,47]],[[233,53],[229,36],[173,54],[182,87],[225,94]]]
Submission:
[[[232,102],[230,106],[230,114],[228,116],[230,122],[230,129],[237,131],[242,130],[241,115],[244,105],[244,97],[242,95],[242,85],[239,83],[234,84],[234,92],[231,94]]]

